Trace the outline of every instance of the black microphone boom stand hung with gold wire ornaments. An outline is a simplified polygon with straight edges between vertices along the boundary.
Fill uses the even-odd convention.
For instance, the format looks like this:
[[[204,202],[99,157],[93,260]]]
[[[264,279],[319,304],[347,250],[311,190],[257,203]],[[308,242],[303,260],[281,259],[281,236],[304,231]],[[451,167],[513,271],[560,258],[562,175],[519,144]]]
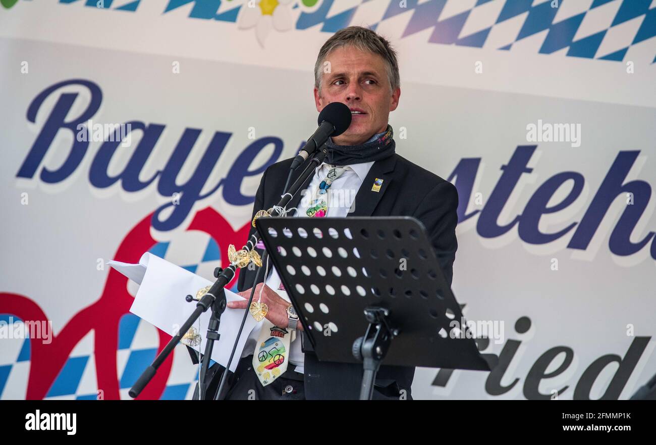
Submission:
[[[314,154],[312,159],[310,159],[310,163],[306,167],[306,169],[301,173],[301,175],[298,177],[296,182],[292,184],[292,186],[289,188],[289,191],[285,193],[279,203],[277,203],[277,206],[285,208],[287,203],[293,198],[293,196],[298,192],[300,187],[304,184],[306,179],[310,177],[312,173],[314,173],[314,169],[320,165],[323,162],[323,159],[327,156],[327,148],[325,146],[321,147],[320,150]],[[312,167],[312,168],[310,168]],[[279,213],[276,211],[275,215],[272,215],[272,217],[277,217],[279,216]],[[255,244],[258,242],[258,237],[255,237],[255,243],[252,243],[250,240],[247,242],[247,244],[251,244],[251,249],[255,249]],[[245,249],[247,246],[244,246],[243,248]],[[262,265],[264,265],[264,261],[266,261],[266,251],[264,251],[264,254],[262,255]],[[221,314],[224,312],[226,308],[226,294],[224,292],[224,288],[232,278],[235,276],[235,271],[237,269],[237,264],[232,263],[230,266],[224,268],[220,274],[218,274],[218,277],[216,278],[216,281],[214,284],[210,287],[209,291],[205,292],[202,297],[199,299],[198,303],[196,303],[196,308],[194,312],[189,316],[186,322],[182,324],[180,329],[178,330],[178,333],[171,338],[169,343],[164,347],[164,349],[157,354],[157,357],[155,357],[155,360],[152,362],[144,372],[139,376],[137,381],[134,383],[133,387],[130,389],[128,394],[132,398],[136,398],[148,385],[148,383],[152,380],[152,378],[155,376],[155,373],[157,373],[157,369],[161,364],[166,360],[166,358],[171,354],[171,351],[176,347],[176,345],[180,342],[180,339],[184,336],[184,334],[192,327],[192,325],[195,323],[196,320],[198,320],[199,316],[203,312],[205,312],[208,308],[212,308],[212,315],[210,318],[209,326],[207,328],[207,342],[205,343],[205,356],[203,357],[204,361],[201,366],[201,372],[199,373],[199,385],[198,385],[198,391],[199,391],[199,400],[203,400],[203,392],[205,392],[205,389],[203,388],[203,385],[201,385],[201,382],[205,381],[205,374],[207,373],[207,368],[208,368],[208,363],[211,358],[212,354],[212,349],[214,345],[214,341],[218,340],[218,327],[220,325],[220,318]],[[261,268],[260,268],[261,270]],[[258,270],[258,274],[260,272]],[[255,289],[255,286],[253,286],[253,289]],[[251,291],[251,298],[249,299],[249,307],[251,305],[251,302],[253,301],[253,291]],[[189,301],[189,300],[188,300]],[[241,331],[243,329],[245,320],[247,315],[249,314],[248,310],[245,310],[244,312],[244,317],[243,320],[241,320],[241,327],[239,328],[239,333],[237,333],[237,339],[235,341],[234,347],[232,349],[232,354],[230,356],[230,360],[228,361],[228,366],[226,366],[226,371],[221,376],[221,383],[220,386],[224,383],[224,377],[227,373],[227,371],[230,369],[230,364],[232,363],[232,357],[234,356],[235,349],[237,347],[237,341],[239,341],[239,337],[241,336]],[[219,387],[220,390],[220,387]],[[218,397],[219,391],[216,392],[216,397]]]

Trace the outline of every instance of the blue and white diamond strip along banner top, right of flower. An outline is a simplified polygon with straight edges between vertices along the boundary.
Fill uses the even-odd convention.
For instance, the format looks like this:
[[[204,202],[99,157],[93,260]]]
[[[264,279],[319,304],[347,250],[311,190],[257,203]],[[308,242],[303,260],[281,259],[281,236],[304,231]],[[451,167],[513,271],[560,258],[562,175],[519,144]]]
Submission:
[[[346,5],[346,6],[345,6]],[[554,7],[557,5],[557,7]],[[656,54],[654,0],[325,0],[300,30],[369,26],[393,39],[421,33],[428,43],[625,60],[635,45]]]

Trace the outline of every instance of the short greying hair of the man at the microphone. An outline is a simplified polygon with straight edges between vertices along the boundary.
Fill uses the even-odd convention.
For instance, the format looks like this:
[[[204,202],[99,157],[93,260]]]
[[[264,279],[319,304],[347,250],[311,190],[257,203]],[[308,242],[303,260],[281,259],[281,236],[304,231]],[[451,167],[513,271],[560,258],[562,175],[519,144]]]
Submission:
[[[323,74],[323,63],[325,58],[335,49],[353,46],[363,52],[378,54],[385,62],[387,78],[390,81],[390,90],[394,92],[400,87],[399,63],[396,60],[396,51],[390,42],[378,35],[375,31],[361,26],[349,26],[343,28],[329,38],[323,44],[317,61],[314,64],[314,86],[321,91],[321,75]]]

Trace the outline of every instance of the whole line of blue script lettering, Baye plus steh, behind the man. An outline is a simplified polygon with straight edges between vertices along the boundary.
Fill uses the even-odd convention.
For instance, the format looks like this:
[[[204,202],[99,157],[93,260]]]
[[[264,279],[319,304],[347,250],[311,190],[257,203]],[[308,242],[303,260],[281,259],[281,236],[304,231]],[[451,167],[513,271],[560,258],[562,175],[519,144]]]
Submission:
[[[41,167],[39,179],[52,184],[70,177],[75,169],[79,167],[89,148],[88,140],[90,138],[77,140],[75,138],[76,129],[78,125],[89,121],[100,108],[102,91],[98,85],[84,79],[71,79],[56,83],[34,98],[28,107],[27,118],[30,122],[35,123],[36,116],[45,100],[50,95],[56,94],[58,89],[71,86],[80,87],[89,92],[91,100],[87,108],[79,116],[66,121],[66,116],[70,114],[78,93],[60,93],[18,170],[17,177],[33,179],[39,167]],[[42,114],[45,114],[45,112],[42,112]],[[217,180],[216,184],[211,186],[207,184],[207,181],[218,164],[230,137],[232,137],[232,133],[216,131],[205,152],[197,160],[195,169],[192,169],[191,177],[186,182],[179,183],[178,177],[182,166],[190,158],[192,148],[194,148],[203,131],[197,128],[186,128],[163,168],[155,171],[149,179],[142,180],[140,179],[140,173],[156,150],[155,146],[164,133],[165,125],[158,123],[147,124],[142,121],[131,121],[128,124],[131,131],[141,131],[142,138],[134,148],[123,171],[117,175],[108,173],[112,158],[122,140],[119,140],[119,138],[104,140],[92,159],[91,168],[89,169],[89,182],[96,188],[107,188],[120,182],[121,187],[126,192],[137,192],[157,180],[157,192],[161,196],[168,197],[179,194],[180,199],[176,200],[175,203],[173,201],[167,202],[155,210],[152,226],[161,231],[173,230],[182,224],[194,209],[195,203],[208,198],[220,187],[222,187],[222,196],[227,203],[231,205],[250,205],[255,201],[255,196],[244,195],[241,192],[243,180],[262,174],[269,165],[277,161],[283,152],[283,141],[280,138],[267,136],[254,140],[239,153],[237,159],[228,169],[226,176]],[[51,170],[42,165],[43,159],[60,130],[71,131],[73,143],[62,165]],[[121,137],[126,136],[121,135]],[[271,148],[273,149],[272,154],[262,165],[252,165],[253,160],[262,151]],[[539,230],[541,217],[564,210],[581,196],[585,185],[583,175],[576,171],[565,171],[544,181],[533,192],[522,213],[516,215],[508,224],[499,225],[499,215],[508,203],[508,199],[522,175],[530,175],[533,172],[533,169],[528,167],[528,163],[536,148],[537,145],[517,146],[508,163],[501,166],[501,177],[499,177],[497,184],[489,194],[489,198],[485,200],[483,209],[477,209],[470,213],[466,213],[466,209],[474,192],[474,182],[482,159],[461,159],[449,176],[449,180],[454,182],[458,189],[460,198],[457,209],[458,221],[463,222],[478,215],[476,231],[483,238],[502,236],[517,225],[518,236],[528,244],[548,244],[573,232],[567,247],[569,249],[585,250],[590,245],[613,201],[618,197],[630,196],[630,202],[627,200],[626,207],[609,236],[609,250],[619,256],[633,255],[646,247],[651,241],[649,252],[651,257],[656,259],[655,232],[648,232],[638,242],[631,241],[636,225],[646,211],[651,199],[651,186],[648,182],[644,180],[626,182],[626,177],[640,154],[638,151],[622,151],[617,154],[580,222],[572,221],[557,232],[541,232]],[[560,202],[549,206],[556,192],[565,184],[571,184],[571,190],[567,196]],[[205,189],[207,189],[207,192],[203,193]],[[169,207],[172,208],[169,209]]]

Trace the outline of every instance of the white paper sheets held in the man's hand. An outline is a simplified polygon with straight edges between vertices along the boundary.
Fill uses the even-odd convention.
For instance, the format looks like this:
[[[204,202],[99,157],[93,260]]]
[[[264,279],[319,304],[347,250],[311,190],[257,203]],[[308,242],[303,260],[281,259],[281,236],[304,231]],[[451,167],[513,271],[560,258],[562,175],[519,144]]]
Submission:
[[[136,284],[140,284],[130,312],[169,335],[174,335],[174,332],[194,312],[196,303],[187,303],[185,300],[186,295],[194,295],[195,297],[198,289],[212,284],[205,278],[201,278],[148,252],[142,255],[139,264],[136,265],[119,261],[108,261],[107,264]],[[243,300],[236,293],[228,289],[225,289],[225,291],[228,301]],[[218,329],[220,340],[214,344],[212,360],[223,366],[228,364],[232,345],[237,337],[244,311],[245,309],[226,308],[221,316],[221,324]],[[205,352],[205,335],[209,318],[210,310],[208,309],[201,314],[199,321],[194,323],[194,328],[202,337],[201,344],[193,347],[199,352]],[[241,358],[244,344],[255,324],[253,317],[246,317],[235,356],[232,359],[232,364],[230,364],[231,371],[237,369],[237,363]]]

